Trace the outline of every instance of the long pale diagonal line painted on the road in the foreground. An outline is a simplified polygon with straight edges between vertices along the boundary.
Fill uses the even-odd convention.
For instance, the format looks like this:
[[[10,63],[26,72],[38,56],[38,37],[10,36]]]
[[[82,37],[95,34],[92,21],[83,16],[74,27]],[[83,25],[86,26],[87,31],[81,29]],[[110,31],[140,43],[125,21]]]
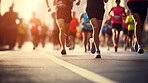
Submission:
[[[116,81],[113,81],[111,79],[103,77],[103,76],[96,74],[94,72],[88,71],[88,70],[78,67],[76,65],[70,64],[64,60],[56,58],[55,56],[52,56],[52,55],[49,55],[49,54],[43,53],[43,52],[39,52],[39,53],[46,56],[48,59],[52,60],[53,62],[57,63],[58,65],[61,65],[65,68],[77,73],[78,75],[94,82],[94,83],[117,83]]]

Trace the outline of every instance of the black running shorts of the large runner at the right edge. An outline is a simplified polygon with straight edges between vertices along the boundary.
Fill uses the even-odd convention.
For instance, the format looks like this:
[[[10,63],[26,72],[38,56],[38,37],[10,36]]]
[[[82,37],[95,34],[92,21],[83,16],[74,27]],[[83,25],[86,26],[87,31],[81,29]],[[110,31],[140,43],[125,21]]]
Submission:
[[[130,1],[127,3],[132,14],[138,13],[141,20],[146,19],[148,1]]]

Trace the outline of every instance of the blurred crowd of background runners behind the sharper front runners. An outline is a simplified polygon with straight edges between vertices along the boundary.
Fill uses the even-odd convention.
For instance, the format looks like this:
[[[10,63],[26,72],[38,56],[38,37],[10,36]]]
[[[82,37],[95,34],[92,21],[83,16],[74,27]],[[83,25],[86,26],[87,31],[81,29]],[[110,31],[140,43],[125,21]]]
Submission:
[[[50,30],[50,26],[47,26],[44,22],[41,22],[36,17],[36,12],[32,12],[32,18],[28,24],[23,22],[23,18],[18,17],[18,13],[13,11],[14,4],[9,8],[3,16],[0,16],[0,46],[8,45],[9,49],[14,49],[17,46],[22,48],[24,42],[32,41],[33,50],[35,50],[39,44],[44,48],[46,43],[53,43],[54,50],[60,50],[61,45],[59,41],[59,28],[56,23],[56,12],[51,14],[53,18],[53,30]],[[84,46],[84,52],[90,51],[90,42],[93,35],[93,28],[89,22],[87,14],[84,12],[80,14],[80,17],[76,17],[76,12],[72,12],[72,21],[69,27],[69,36],[71,45],[69,50],[75,49],[75,44]],[[115,17],[114,17],[115,18]],[[104,20],[100,35],[100,45],[102,47],[107,46],[107,50],[114,45],[114,39],[116,31],[112,31],[112,15],[108,15]],[[118,17],[117,17],[118,19]],[[125,17],[122,18],[121,29],[117,34],[119,46],[124,50],[128,48],[130,51],[134,49],[134,27],[135,23],[128,9],[125,9]],[[121,31],[121,34],[120,34]],[[148,41],[148,40],[146,40]]]

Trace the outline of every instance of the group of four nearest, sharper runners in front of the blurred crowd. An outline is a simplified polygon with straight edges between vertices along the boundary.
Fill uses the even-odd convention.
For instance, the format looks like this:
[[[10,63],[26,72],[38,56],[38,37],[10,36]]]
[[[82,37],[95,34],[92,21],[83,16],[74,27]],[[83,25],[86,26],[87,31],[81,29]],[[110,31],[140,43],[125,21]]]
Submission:
[[[66,46],[70,46],[69,38],[69,25],[72,20],[71,10],[73,7],[73,2],[76,1],[76,5],[80,4],[80,0],[54,0],[56,6],[56,22],[59,27],[59,40],[62,46],[61,54],[66,54]],[[102,27],[103,17],[105,13],[104,3],[107,3],[108,0],[87,0],[86,13],[83,13],[82,16],[87,14],[90,24],[92,26],[92,43],[90,46],[91,52],[96,53],[95,58],[101,58],[101,51],[99,48],[99,34]],[[112,23],[112,32],[113,32],[113,44],[115,51],[118,48],[119,35],[122,30],[122,17],[126,16],[125,9],[120,6],[120,0],[115,0],[116,6],[111,8],[110,13],[113,12],[111,23]],[[48,0],[46,0],[48,11],[51,11]],[[128,0],[127,5],[132,12],[135,23],[135,38],[138,44],[138,53],[144,53],[144,50],[141,46],[141,33],[143,30],[144,21],[147,15],[147,0]],[[87,20],[85,20],[87,21]]]

